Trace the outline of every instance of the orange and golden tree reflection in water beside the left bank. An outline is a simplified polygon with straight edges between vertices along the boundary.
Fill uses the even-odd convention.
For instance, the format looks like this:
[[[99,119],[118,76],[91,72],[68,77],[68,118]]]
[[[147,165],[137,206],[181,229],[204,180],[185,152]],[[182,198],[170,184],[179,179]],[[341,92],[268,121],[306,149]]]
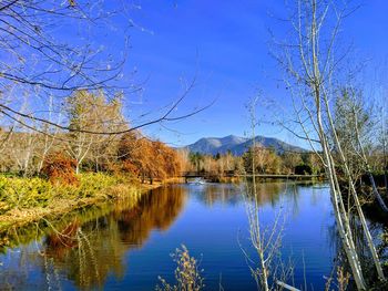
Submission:
[[[67,242],[52,243],[55,240],[49,236],[47,254],[67,269],[76,285],[102,287],[109,273],[116,278],[124,274],[122,259],[129,248],[144,243],[152,229],[165,230],[171,226],[183,208],[184,197],[178,187],[156,189],[144,195],[135,207],[116,209],[95,222],[79,227],[75,248]]]

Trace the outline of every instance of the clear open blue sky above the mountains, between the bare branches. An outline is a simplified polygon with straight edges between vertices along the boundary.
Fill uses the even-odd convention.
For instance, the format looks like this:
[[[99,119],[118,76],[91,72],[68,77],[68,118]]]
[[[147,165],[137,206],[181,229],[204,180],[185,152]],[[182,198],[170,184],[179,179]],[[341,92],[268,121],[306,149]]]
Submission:
[[[185,145],[201,137],[241,135],[249,131],[246,103],[258,90],[283,108],[289,98],[278,81],[280,70],[268,54],[270,28],[286,29],[269,15],[284,13],[284,1],[203,1],[143,0],[131,18],[136,23],[130,31],[131,49],[125,72],[136,70],[135,82],[141,94],[129,96],[129,117],[152,112],[157,116],[182,93],[183,80],[196,76],[195,87],[175,114],[205,106],[196,116],[165,126],[143,131],[172,145]],[[344,25],[345,42],[353,42],[355,54],[368,61],[370,70],[387,59],[388,2],[365,1]],[[119,49],[118,49],[119,50]],[[369,74],[369,73],[368,73]],[[367,81],[372,82],[370,75]],[[278,108],[258,107],[258,114],[272,119]],[[303,145],[285,131],[262,124],[258,134],[275,136]]]

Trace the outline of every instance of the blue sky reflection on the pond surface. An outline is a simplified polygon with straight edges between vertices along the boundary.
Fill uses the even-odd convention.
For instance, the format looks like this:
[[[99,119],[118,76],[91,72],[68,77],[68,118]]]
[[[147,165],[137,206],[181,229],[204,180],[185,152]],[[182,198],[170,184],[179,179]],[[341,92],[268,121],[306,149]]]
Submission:
[[[259,200],[261,221],[264,226],[270,226],[277,210],[282,209],[287,218],[283,238],[283,258],[292,257],[296,267],[297,287],[300,287],[303,282],[304,258],[308,284],[314,284],[315,290],[321,290],[325,284],[323,276],[330,273],[335,251],[330,248],[328,233],[329,227],[334,224],[328,189],[313,189],[312,186],[293,186],[293,184],[285,186],[285,184],[269,183],[261,185],[259,193],[263,193]],[[124,251],[121,254],[125,270],[123,277],[118,279],[111,272],[104,288],[121,290],[130,287],[131,290],[153,290],[157,283],[157,276],[172,282],[175,266],[169,254],[184,243],[191,253],[201,260],[201,268],[205,270],[206,290],[218,289],[219,277],[222,277],[225,290],[256,290],[237,241],[238,237],[243,247],[248,249],[246,209],[244,199],[239,195],[242,187],[210,184],[173,186],[173,188],[170,191],[171,194],[174,191],[175,197],[180,197],[178,188],[182,189],[181,195],[186,197],[180,198],[185,201],[180,206],[182,208],[171,210],[171,207],[166,207],[163,210],[156,207],[155,210],[175,211],[177,215],[174,220],[169,224],[167,228],[161,230],[153,226],[153,230],[143,243],[137,246],[139,248],[133,249],[132,246]],[[153,195],[155,198],[159,195],[160,198],[150,198],[150,201],[165,201],[162,197],[167,194],[169,191],[155,191]],[[165,217],[163,214],[155,215],[155,217]],[[144,232],[144,229],[141,228],[146,225],[136,226],[120,231]],[[95,246],[96,248],[109,247],[109,240],[120,239],[124,235],[108,236],[104,238],[108,245],[101,242]],[[118,243],[123,247],[129,246],[124,240]],[[33,247],[33,245],[29,246],[27,252],[8,252],[6,257],[0,257],[0,261],[4,264],[0,267],[0,270],[12,270],[22,277],[20,281],[23,281],[25,285],[40,289],[38,285],[45,285],[45,274]],[[125,248],[120,247],[120,249]],[[22,253],[24,258],[21,257]],[[23,269],[20,268],[21,264]],[[3,276],[3,272],[1,273],[0,277]],[[60,278],[62,289],[72,290],[74,288],[72,282],[65,279],[65,273],[60,273]]]

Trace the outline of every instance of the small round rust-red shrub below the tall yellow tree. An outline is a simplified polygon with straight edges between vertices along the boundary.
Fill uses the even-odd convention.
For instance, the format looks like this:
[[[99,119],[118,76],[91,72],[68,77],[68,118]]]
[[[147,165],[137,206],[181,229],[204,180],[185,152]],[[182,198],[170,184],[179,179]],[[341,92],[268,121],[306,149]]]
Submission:
[[[42,174],[52,184],[78,185],[79,179],[74,172],[75,165],[74,159],[59,152],[53,153],[44,159]]]

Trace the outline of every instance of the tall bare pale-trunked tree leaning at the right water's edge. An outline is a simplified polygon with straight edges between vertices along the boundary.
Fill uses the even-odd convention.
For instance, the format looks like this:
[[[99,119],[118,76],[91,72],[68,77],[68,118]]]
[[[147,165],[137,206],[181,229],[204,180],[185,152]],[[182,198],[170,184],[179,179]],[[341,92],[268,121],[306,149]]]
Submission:
[[[347,2],[335,3],[318,0],[298,0],[295,8],[289,20],[292,24],[290,38],[285,43],[278,43],[282,48],[278,61],[288,76],[286,85],[293,96],[295,114],[303,136],[324,165],[330,186],[337,229],[355,282],[359,290],[365,290],[367,285],[351,233],[350,214],[344,204],[333,152],[333,147],[335,147],[343,164],[344,175],[349,185],[350,195],[363,225],[376,270],[379,278],[385,280],[349,170],[349,160],[344,155],[343,144],[338,138],[331,113],[335,83],[340,82],[338,69],[340,61],[346,56],[346,52],[337,45],[337,38],[344,19],[354,11],[354,8],[349,7]]]

